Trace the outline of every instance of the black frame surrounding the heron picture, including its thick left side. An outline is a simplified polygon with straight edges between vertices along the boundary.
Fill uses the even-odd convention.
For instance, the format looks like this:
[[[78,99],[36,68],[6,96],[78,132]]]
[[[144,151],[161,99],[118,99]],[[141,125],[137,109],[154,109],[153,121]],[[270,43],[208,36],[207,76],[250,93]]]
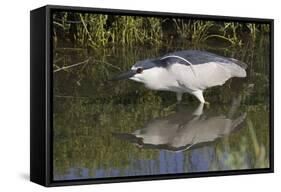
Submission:
[[[216,21],[267,23],[270,25],[270,167],[263,169],[196,172],[167,175],[114,177],[85,180],[52,179],[52,12],[78,11],[122,15],[165,16]],[[274,172],[274,20],[184,13],[148,12],[46,5],[30,12],[30,180],[43,186],[81,185],[112,182],[148,181],[209,176],[242,175]]]

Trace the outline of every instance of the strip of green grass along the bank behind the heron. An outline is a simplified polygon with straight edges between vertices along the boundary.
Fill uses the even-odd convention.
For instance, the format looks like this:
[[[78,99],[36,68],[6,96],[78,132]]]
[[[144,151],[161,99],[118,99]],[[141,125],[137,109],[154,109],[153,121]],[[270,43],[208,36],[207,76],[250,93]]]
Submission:
[[[171,40],[187,41],[195,46],[210,40],[225,41],[228,46],[241,47],[269,33],[269,25],[266,24],[179,18],[63,12],[54,14],[53,19],[56,47],[64,42],[92,48],[112,45],[163,46]],[[62,41],[58,42],[58,39]]]

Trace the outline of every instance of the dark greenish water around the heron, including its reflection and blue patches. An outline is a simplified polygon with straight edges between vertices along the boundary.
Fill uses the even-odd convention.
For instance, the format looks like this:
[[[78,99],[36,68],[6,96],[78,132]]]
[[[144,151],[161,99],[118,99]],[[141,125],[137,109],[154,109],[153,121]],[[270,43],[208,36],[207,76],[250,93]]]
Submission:
[[[54,179],[269,167],[269,47],[200,48],[248,64],[247,78],[206,90],[209,106],[185,94],[108,81],[137,60],[194,47],[56,49]],[[56,68],[55,68],[56,69]]]

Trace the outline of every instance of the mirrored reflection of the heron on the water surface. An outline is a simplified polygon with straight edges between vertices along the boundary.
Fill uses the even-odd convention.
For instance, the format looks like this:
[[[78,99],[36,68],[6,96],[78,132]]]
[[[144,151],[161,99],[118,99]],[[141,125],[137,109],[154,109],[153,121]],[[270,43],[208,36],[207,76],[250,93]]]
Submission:
[[[203,115],[204,104],[200,104],[193,112],[188,112],[185,108],[172,115],[155,118],[144,128],[133,133],[114,133],[114,135],[140,148],[183,151],[199,144],[213,142],[241,127],[246,114],[233,118],[239,105],[238,98],[232,103],[227,115],[206,117]]]

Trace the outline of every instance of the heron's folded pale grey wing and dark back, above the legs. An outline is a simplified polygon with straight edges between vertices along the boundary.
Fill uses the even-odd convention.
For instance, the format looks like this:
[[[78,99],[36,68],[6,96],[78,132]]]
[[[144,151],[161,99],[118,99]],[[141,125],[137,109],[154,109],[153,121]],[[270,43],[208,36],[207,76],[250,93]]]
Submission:
[[[222,85],[231,77],[245,77],[239,61],[206,51],[178,51],[159,59],[190,90]],[[164,64],[163,64],[164,63]]]

